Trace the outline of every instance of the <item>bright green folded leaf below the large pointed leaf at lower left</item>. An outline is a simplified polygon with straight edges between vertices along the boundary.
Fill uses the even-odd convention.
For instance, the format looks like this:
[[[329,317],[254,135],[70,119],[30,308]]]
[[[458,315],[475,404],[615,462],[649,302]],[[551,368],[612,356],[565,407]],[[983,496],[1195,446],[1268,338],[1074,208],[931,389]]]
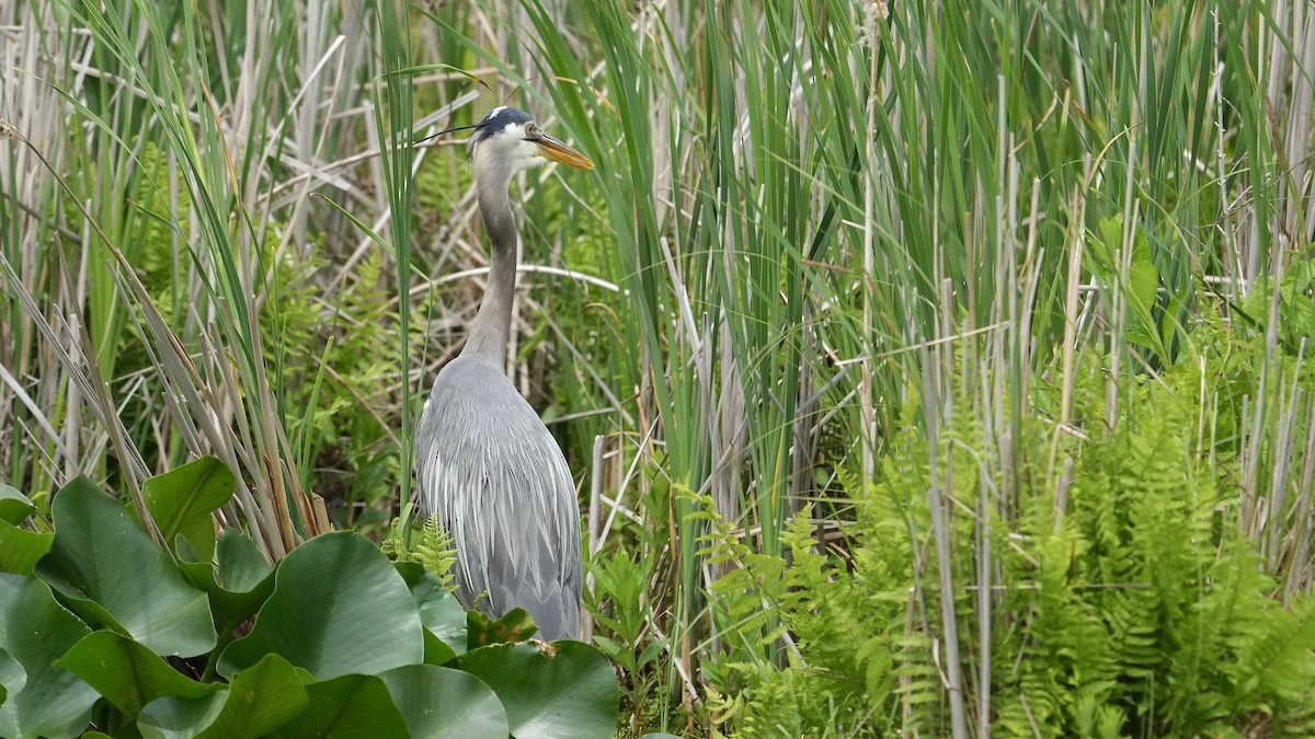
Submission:
[[[85,680],[130,718],[156,698],[199,698],[220,688],[185,677],[155,652],[113,631],[83,636],[55,665]]]

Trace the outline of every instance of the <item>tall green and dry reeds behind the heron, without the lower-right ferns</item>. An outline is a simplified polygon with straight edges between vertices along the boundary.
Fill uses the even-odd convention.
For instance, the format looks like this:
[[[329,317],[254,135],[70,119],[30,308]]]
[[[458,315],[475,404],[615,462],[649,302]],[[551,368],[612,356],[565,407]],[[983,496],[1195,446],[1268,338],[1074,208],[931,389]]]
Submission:
[[[1290,271],[1315,241],[1308,14],[1255,0],[8,5],[0,120],[24,138],[0,141],[0,469],[39,493],[218,454],[245,481],[229,519],[271,558],[326,526],[317,512],[342,525],[406,501],[414,410],[473,316],[487,252],[462,150],[400,143],[517,104],[597,164],[518,185],[534,270],[510,370],[590,492],[608,581],[642,581],[627,648],[651,647],[656,667],[627,679],[658,700],[635,726],[706,719],[718,665],[797,654],[771,618],[727,621],[711,584],[738,565],[710,558],[714,521],[785,556],[809,510],[848,554],[855,490],[881,483],[896,433],[976,423],[977,469],[927,460],[931,530],[909,538],[938,556],[919,555],[936,564],[915,571],[911,630],[948,661],[947,731],[985,735],[999,625],[965,621],[963,598],[989,613],[1009,586],[995,547],[1034,489],[1023,476],[1066,490],[1082,444],[1116,433],[1137,381],[1190,356],[1206,318],[1266,345],[1245,392],[1202,400],[1203,426],[1233,412],[1220,402],[1245,423],[1201,454],[1236,450],[1236,523],[1285,593],[1311,588],[1297,434],[1312,410],[1294,384],[1308,370],[1285,359],[1304,356],[1293,305],[1308,280]],[[358,310],[377,289],[388,309]],[[352,339],[354,355],[335,348]],[[360,347],[377,359],[352,363]],[[1078,427],[1093,364],[1107,423]],[[1056,402],[1035,406],[1039,388]],[[1022,443],[1038,418],[1044,450]],[[994,492],[953,498],[965,473]]]

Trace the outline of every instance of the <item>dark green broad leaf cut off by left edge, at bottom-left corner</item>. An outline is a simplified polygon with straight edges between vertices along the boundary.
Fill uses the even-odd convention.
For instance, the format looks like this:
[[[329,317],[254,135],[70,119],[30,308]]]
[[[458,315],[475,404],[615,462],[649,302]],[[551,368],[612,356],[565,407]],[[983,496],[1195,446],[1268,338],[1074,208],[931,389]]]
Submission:
[[[54,661],[88,631],[45,583],[0,573],[0,650],[9,656],[0,671],[9,694],[0,705],[0,736],[58,739],[87,726],[96,690]]]

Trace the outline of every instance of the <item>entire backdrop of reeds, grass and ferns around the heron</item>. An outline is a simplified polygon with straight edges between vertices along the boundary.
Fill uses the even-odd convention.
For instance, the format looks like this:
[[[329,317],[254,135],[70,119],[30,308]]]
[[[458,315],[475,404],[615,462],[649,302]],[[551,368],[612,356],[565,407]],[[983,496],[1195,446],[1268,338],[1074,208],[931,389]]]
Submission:
[[[1306,0],[5,3],[0,479],[383,536],[487,267],[406,143],[514,104],[622,735],[1310,735],[1312,74]]]

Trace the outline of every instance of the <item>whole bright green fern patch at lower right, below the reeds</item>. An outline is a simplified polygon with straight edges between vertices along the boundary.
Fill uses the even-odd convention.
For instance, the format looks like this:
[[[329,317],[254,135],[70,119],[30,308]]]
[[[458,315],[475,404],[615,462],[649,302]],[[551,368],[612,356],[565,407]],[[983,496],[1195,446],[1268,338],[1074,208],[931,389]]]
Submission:
[[[1241,352],[1251,339],[1241,331],[1231,341]],[[992,590],[986,614],[976,588],[964,588],[978,585],[980,534],[970,515],[953,513],[963,667],[976,676],[984,659],[982,644],[967,635],[977,635],[985,615],[998,735],[1240,735],[1260,722],[1298,736],[1315,726],[1315,598],[1281,596],[1241,526],[1236,456],[1224,463],[1199,447],[1199,385],[1232,383],[1219,362],[1189,355],[1160,383],[1127,380],[1107,431],[1098,430],[1102,377],[1084,371],[1076,425],[1091,433],[1059,447],[1073,460],[1066,502],[1038,467],[1051,433],[1040,422],[1023,426],[1020,508],[989,513],[992,567],[1003,585]],[[1039,397],[1035,406],[1049,402]],[[842,473],[857,512],[843,559],[819,544],[809,508],[782,539],[786,559],[752,552],[700,501],[713,531],[709,561],[732,565],[713,585],[723,640],[740,639],[740,630],[761,634],[778,619],[767,632],[793,644],[782,655],[769,642],[744,644],[707,669],[723,728],[742,736],[948,731],[943,668],[935,667],[944,650],[935,644],[943,636],[928,448],[913,423],[920,412],[917,400],[906,405],[874,487]],[[943,429],[938,467],[952,476],[960,504],[981,496],[977,469],[988,450],[974,416]],[[988,480],[993,490],[1005,484]]]

